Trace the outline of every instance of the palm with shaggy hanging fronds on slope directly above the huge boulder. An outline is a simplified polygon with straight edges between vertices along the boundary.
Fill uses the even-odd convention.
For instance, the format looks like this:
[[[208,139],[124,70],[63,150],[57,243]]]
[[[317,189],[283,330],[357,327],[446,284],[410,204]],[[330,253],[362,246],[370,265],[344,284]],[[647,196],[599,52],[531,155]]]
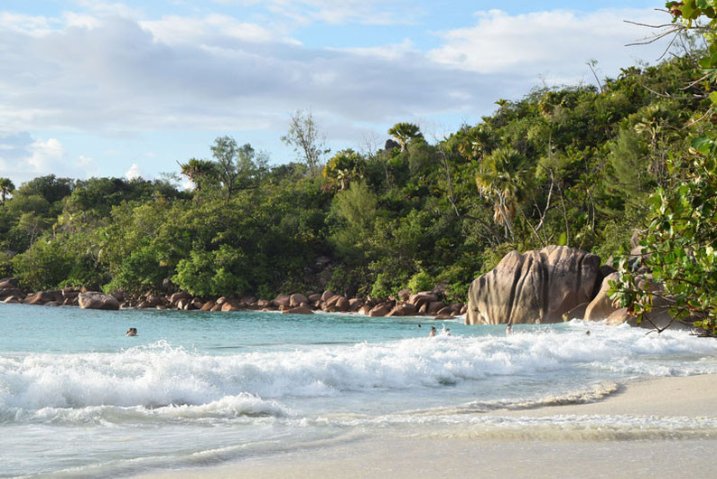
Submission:
[[[480,162],[476,174],[478,191],[493,202],[493,221],[503,225],[506,238],[513,237],[517,203],[526,185],[524,163],[525,157],[516,150],[500,147]]]

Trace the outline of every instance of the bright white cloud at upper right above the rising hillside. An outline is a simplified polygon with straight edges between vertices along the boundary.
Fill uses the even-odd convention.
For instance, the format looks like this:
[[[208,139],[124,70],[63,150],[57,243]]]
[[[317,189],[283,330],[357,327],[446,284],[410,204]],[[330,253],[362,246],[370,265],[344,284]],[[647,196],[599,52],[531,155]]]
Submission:
[[[500,10],[479,12],[469,28],[439,33],[445,44],[429,52],[434,61],[478,73],[525,75],[547,72],[562,80],[579,79],[585,62],[597,59],[614,72],[629,66],[633,56],[656,59],[664,43],[649,47],[625,45],[649,34],[625,23],[665,23],[666,14],[653,10],[600,10],[591,14],[555,10],[510,15]],[[668,20],[668,19],[667,19]]]

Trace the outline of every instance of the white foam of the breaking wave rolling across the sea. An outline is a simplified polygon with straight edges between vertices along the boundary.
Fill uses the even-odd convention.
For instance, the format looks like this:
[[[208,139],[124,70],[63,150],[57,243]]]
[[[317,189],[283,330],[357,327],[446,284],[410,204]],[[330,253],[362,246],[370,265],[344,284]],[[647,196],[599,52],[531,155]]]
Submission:
[[[636,328],[591,324],[586,336],[586,324],[567,327],[526,333],[518,326],[509,337],[438,336],[230,356],[160,342],[112,353],[0,357],[0,413],[6,418],[19,409],[173,405],[176,414],[280,415],[285,411],[272,399],[438,388],[576,366],[644,375],[717,371],[716,362],[698,361],[713,356],[717,344],[686,333],[646,336]]]

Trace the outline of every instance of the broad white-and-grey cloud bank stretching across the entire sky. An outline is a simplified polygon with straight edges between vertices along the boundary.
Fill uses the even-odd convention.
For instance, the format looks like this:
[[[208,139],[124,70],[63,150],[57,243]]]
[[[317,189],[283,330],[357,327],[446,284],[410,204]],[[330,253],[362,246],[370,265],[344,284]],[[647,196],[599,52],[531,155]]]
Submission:
[[[103,4],[58,17],[0,13],[0,132],[25,142],[0,148],[0,174],[54,173],[57,164],[87,169],[91,160],[70,161],[63,151],[62,132],[244,131],[250,139],[266,130],[278,138],[290,112],[312,108],[332,136],[358,143],[367,128],[385,131],[401,120],[475,121],[496,99],[515,99],[541,81],[592,81],[585,64],[591,59],[602,74],[616,76],[619,67],[654,60],[664,48],[623,46],[647,34],[623,19],[664,22],[647,10],[477,12],[470,26],[426,32],[438,42],[428,51],[411,38],[368,48],[309,47],[286,20],[296,16],[294,28],[317,19],[398,22],[405,5],[388,6],[273,0],[265,8],[281,9],[284,20],[266,23],[214,13],[144,18]]]

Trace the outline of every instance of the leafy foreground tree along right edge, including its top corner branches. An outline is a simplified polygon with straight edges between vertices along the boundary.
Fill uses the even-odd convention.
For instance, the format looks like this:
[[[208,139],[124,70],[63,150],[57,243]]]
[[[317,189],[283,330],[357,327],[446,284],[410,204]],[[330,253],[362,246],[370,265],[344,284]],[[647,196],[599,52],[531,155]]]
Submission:
[[[705,69],[701,80],[717,83],[717,0],[668,2],[677,33],[706,17],[705,40],[710,45],[700,61]],[[717,93],[710,94],[712,106],[703,115],[715,119]],[[655,122],[653,122],[655,123]],[[696,127],[694,127],[696,129]],[[610,296],[619,305],[644,320],[656,299],[669,305],[670,315],[717,334],[717,129],[700,126],[691,148],[668,158],[666,169],[672,184],[658,187],[650,197],[647,232],[640,241],[638,264],[651,273],[649,281],[633,271],[629,255],[619,259],[619,281]],[[702,130],[702,131],[700,131]],[[656,286],[657,285],[657,286]]]

